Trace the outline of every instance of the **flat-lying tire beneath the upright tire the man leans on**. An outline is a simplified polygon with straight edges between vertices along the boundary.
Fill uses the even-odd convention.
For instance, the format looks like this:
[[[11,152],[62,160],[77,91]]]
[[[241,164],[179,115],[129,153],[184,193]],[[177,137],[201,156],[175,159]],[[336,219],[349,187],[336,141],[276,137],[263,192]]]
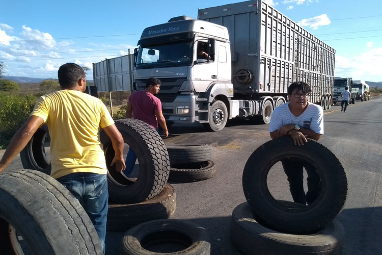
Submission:
[[[295,204],[297,203],[289,202]],[[342,225],[337,221],[311,235],[293,235],[270,230],[259,224],[253,217],[247,202],[238,205],[232,212],[231,240],[243,254],[341,254],[345,241]]]

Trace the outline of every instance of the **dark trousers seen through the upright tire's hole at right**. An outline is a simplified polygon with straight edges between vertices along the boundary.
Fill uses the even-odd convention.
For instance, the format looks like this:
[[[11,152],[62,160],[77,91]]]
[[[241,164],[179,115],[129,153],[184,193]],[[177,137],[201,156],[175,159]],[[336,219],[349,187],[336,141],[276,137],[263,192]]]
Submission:
[[[282,164],[284,172],[288,176],[289,190],[293,201],[303,205],[306,205],[307,202],[308,205],[314,202],[321,190],[321,180],[315,168],[310,164],[293,160],[283,160]],[[304,167],[308,174],[308,192],[306,194],[304,191]]]

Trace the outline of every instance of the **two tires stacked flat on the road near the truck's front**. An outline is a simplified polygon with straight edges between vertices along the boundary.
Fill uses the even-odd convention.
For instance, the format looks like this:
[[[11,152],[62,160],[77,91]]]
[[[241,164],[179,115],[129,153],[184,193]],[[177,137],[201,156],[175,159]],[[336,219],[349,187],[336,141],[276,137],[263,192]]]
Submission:
[[[207,144],[167,145],[170,159],[169,181],[188,183],[210,179],[215,171],[212,147]]]

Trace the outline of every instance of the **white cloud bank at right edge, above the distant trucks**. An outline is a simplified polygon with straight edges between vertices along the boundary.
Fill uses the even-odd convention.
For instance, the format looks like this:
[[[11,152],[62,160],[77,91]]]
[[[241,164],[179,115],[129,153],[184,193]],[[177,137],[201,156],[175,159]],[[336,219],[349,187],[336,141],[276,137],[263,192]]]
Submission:
[[[382,47],[370,49],[353,58],[336,56],[335,77],[352,77],[354,80],[382,81]]]

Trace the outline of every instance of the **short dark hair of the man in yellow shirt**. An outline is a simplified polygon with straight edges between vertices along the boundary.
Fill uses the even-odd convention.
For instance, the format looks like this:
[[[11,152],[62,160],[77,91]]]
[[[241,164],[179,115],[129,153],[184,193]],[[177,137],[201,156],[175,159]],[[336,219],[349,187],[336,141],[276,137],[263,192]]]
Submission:
[[[72,88],[75,87],[79,79],[86,78],[86,74],[79,65],[66,63],[60,66],[58,77],[61,88]]]

